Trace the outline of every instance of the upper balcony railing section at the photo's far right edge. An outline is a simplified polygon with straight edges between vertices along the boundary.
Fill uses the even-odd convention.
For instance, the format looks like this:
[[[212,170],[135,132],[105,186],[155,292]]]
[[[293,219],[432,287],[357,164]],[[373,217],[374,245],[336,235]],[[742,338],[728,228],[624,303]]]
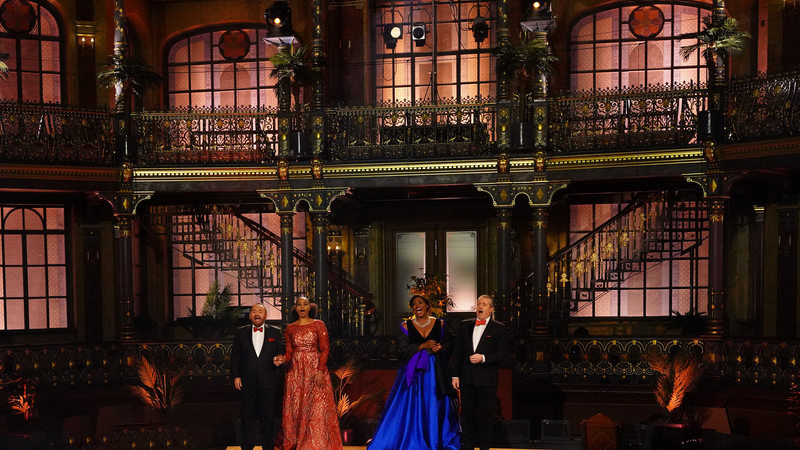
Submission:
[[[734,79],[728,93],[729,140],[800,135],[800,72]]]

